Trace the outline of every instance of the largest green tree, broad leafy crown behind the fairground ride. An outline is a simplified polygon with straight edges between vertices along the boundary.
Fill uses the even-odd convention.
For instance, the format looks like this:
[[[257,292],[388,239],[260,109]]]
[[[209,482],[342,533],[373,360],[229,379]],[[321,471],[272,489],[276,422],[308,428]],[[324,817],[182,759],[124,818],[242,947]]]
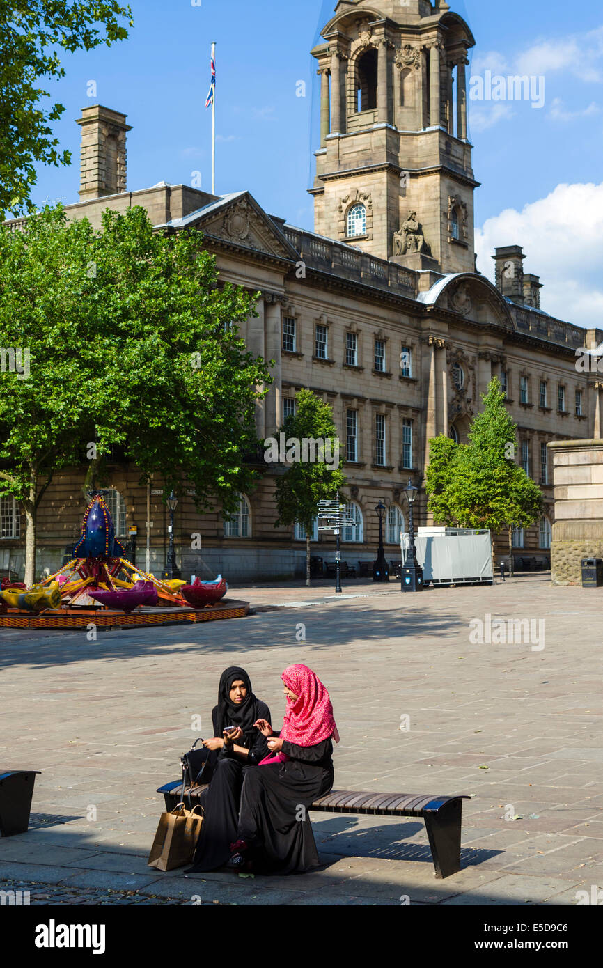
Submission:
[[[232,323],[256,297],[218,286],[201,239],[155,232],[139,207],[106,209],[100,231],[61,206],[0,229],[0,493],[25,511],[28,584],[53,474],[87,458],[93,481],[111,445],[142,482],[188,482],[198,509],[233,511],[253,486],[244,455],[270,376]]]

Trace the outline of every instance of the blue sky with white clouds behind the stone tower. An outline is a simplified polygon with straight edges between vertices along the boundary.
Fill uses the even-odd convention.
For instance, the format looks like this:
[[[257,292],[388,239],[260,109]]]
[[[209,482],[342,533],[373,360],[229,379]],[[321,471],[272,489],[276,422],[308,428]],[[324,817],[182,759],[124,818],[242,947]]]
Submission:
[[[218,181],[248,189],[270,213],[313,227],[318,89],[310,56],[335,0],[132,0],[135,27],[112,48],[65,55],[52,94],[66,106],[55,127],[70,168],[39,171],[34,199],[77,200],[82,106],[128,114],[128,187],[165,179],[210,189],[209,51],[218,45]],[[376,0],[378,5],[378,0]],[[495,245],[518,242],[541,275],[543,308],[603,328],[603,15],[596,0],[454,0],[477,45],[472,76],[544,78],[544,106],[471,102],[478,267],[492,275]],[[571,20],[572,12],[575,19]],[[96,81],[97,97],[87,97]],[[307,85],[296,96],[297,82]]]

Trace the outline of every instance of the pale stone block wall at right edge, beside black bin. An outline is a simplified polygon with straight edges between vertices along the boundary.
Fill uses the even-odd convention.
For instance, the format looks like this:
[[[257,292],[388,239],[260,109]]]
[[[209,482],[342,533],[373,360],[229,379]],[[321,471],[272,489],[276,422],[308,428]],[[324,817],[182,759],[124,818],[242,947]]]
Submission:
[[[582,560],[603,558],[603,440],[557,440],[553,455],[554,585],[580,585]]]

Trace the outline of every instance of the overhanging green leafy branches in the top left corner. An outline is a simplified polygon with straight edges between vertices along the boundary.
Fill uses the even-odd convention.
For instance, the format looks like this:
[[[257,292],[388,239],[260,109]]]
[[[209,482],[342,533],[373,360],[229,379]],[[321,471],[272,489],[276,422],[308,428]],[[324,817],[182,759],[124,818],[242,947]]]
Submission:
[[[132,11],[117,0],[0,0],[0,220],[32,212],[36,164],[71,165],[52,123],[65,107],[47,105],[41,78],[65,75],[59,50],[92,50],[123,40]]]

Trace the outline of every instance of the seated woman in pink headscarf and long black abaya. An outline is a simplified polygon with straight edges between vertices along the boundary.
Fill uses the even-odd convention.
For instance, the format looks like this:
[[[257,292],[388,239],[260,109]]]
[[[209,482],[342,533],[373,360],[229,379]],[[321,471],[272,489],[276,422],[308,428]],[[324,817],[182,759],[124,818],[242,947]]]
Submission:
[[[290,873],[319,863],[308,807],[333,787],[333,740],[339,742],[329,694],[305,665],[281,676],[286,713],[280,734],[265,719],[256,728],[270,755],[243,782],[238,840],[228,866]]]

